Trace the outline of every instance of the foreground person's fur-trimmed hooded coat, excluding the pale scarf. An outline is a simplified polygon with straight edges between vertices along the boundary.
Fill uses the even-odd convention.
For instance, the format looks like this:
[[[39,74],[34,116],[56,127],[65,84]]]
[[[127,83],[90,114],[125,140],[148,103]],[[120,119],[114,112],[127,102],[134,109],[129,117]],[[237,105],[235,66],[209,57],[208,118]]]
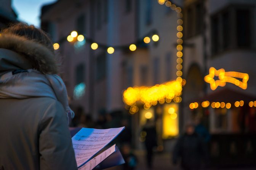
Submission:
[[[53,53],[38,42],[0,35],[0,76],[16,69],[56,74],[57,63]],[[59,101],[47,97],[0,99],[1,168],[77,169],[67,116]]]

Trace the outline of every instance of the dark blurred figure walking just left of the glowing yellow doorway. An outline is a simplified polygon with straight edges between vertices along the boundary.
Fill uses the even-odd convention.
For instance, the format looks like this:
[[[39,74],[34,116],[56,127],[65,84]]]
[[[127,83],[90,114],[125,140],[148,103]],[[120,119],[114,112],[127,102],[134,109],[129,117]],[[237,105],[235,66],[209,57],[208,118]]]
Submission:
[[[142,129],[145,132],[145,146],[147,150],[147,168],[151,169],[153,164],[153,148],[157,146],[157,131],[155,123],[153,120],[147,119],[144,128]]]

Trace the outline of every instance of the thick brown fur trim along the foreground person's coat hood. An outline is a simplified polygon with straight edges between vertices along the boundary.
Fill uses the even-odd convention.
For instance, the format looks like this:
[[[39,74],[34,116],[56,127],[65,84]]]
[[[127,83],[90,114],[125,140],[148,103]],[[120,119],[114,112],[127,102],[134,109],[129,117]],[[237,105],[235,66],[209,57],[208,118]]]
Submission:
[[[29,40],[23,36],[3,33],[0,35],[0,48],[13,50],[25,55],[31,62],[33,69],[37,69],[43,74],[58,73],[58,65],[54,53],[39,42]]]

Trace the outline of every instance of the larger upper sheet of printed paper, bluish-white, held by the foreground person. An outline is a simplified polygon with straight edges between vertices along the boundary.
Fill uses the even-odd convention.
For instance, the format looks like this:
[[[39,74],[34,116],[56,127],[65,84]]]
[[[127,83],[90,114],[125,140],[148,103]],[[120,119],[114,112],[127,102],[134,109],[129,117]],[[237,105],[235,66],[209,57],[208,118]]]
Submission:
[[[77,166],[80,167],[94,154],[111,142],[125,127],[111,129],[82,128],[72,137]]]

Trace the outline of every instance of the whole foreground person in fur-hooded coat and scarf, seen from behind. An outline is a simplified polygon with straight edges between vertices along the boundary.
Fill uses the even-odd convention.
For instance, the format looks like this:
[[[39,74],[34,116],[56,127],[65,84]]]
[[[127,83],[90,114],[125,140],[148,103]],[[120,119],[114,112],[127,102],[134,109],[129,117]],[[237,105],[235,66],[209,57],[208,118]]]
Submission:
[[[0,167],[77,169],[68,129],[67,91],[53,43],[19,23],[0,35]]]

